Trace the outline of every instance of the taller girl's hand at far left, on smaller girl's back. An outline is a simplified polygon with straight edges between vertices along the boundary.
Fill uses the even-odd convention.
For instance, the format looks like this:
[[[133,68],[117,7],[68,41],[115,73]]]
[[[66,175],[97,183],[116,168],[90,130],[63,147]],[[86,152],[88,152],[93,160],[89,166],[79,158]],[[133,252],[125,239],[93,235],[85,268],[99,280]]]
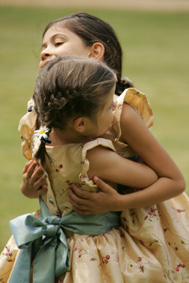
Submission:
[[[47,191],[47,181],[42,167],[37,161],[30,160],[23,169],[21,192],[29,198],[38,198]]]

